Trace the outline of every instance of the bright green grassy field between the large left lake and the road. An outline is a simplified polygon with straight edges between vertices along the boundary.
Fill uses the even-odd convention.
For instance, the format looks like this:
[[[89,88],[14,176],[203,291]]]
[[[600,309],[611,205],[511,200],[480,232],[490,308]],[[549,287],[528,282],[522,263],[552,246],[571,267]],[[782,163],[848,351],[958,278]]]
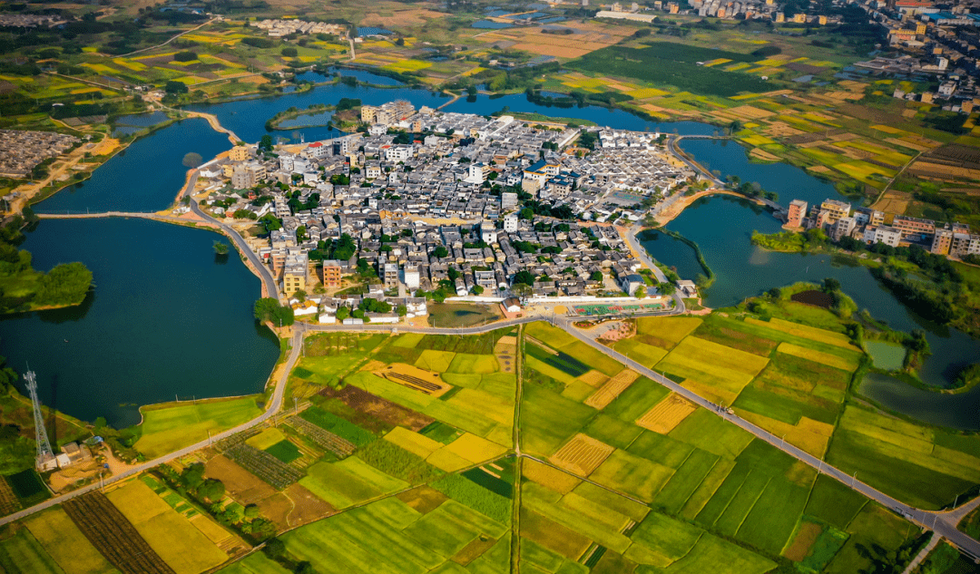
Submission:
[[[217,434],[248,422],[262,414],[256,397],[168,403],[160,407],[143,407],[140,437],[134,447],[154,458],[208,440],[208,432]]]

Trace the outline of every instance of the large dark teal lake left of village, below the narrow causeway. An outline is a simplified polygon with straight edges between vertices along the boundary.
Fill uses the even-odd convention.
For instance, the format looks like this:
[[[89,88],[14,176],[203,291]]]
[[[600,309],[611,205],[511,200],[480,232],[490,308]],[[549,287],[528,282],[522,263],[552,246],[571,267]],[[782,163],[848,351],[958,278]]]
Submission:
[[[218,239],[147,219],[41,221],[22,246],[34,267],[80,261],[95,289],[78,307],[0,321],[2,355],[37,372],[45,405],[118,428],[174,395],[262,392],[279,345],[252,316],[259,278],[233,252],[219,259]]]

